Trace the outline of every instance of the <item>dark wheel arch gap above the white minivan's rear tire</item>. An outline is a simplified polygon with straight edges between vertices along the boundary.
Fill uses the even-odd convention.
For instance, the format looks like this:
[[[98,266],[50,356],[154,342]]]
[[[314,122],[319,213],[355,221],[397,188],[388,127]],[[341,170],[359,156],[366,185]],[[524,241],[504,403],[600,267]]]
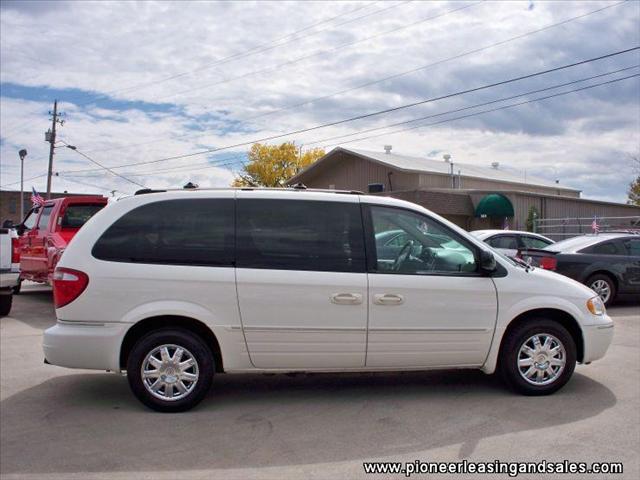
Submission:
[[[126,370],[131,349],[147,333],[160,328],[180,328],[202,338],[213,355],[216,373],[224,373],[220,343],[211,329],[200,320],[181,315],[158,315],[148,317],[133,324],[125,334],[120,346],[120,368]]]

